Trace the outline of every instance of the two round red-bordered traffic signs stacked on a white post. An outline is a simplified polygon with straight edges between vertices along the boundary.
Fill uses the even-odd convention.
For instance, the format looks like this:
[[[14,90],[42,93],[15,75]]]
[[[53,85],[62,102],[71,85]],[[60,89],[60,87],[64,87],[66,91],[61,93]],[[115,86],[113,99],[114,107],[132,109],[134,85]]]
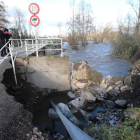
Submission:
[[[29,5],[29,11],[31,14],[33,14],[30,17],[30,23],[32,26],[36,27],[39,25],[40,23],[40,19],[39,17],[36,15],[39,13],[40,8],[36,3],[31,3]],[[38,42],[37,42],[37,32],[36,32],[36,28],[35,28],[35,44],[36,44],[36,56],[38,57]]]

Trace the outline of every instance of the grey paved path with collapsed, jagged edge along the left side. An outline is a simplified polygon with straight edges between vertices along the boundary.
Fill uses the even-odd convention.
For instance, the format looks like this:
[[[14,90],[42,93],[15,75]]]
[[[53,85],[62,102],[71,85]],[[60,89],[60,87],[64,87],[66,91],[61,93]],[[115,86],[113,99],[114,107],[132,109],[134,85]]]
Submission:
[[[8,126],[13,116],[22,108],[21,104],[14,101],[13,96],[8,95],[5,86],[1,83],[4,71],[8,68],[12,68],[9,61],[10,58],[6,59],[0,65],[0,139],[2,139],[2,132],[5,127]]]

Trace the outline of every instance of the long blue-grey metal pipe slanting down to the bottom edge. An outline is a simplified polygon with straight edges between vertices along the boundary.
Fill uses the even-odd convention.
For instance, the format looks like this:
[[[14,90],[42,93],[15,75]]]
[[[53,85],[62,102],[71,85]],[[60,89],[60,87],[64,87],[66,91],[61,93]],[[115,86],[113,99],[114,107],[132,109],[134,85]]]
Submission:
[[[51,105],[57,112],[60,119],[62,120],[62,122],[63,122],[64,126],[66,127],[67,131],[69,132],[72,140],[93,140],[93,138],[91,138],[88,134],[86,134],[79,127],[77,127],[72,122],[70,122],[52,101],[51,101]]]

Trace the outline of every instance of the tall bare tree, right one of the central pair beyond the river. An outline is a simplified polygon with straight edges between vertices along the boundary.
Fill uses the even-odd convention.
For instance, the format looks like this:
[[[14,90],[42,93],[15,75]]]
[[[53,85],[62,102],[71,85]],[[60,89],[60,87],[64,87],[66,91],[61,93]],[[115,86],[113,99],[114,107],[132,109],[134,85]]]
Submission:
[[[86,46],[87,35],[93,31],[93,16],[92,7],[89,3],[82,0],[78,6],[78,13],[76,14],[76,29],[82,41],[82,46]]]

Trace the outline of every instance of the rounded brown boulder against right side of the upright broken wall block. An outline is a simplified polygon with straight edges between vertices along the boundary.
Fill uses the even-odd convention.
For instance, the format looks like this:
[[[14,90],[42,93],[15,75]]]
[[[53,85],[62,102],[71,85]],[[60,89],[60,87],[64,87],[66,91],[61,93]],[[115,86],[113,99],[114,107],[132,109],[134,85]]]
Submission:
[[[103,75],[96,70],[93,70],[89,73],[89,80],[91,80],[94,85],[100,85],[102,79]]]

